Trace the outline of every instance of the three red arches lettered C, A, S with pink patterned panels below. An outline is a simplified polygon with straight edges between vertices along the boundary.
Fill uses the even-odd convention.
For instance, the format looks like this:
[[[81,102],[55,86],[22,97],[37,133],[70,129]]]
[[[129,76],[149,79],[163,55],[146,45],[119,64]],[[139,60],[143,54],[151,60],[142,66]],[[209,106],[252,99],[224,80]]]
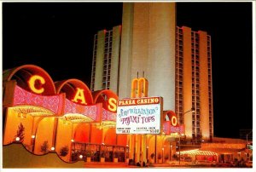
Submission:
[[[97,91],[93,97],[86,84],[78,79],[54,83],[44,69],[34,65],[3,72],[3,107],[8,107],[8,111],[22,118],[37,117],[32,122],[34,125],[26,127],[32,128],[32,135],[36,135],[35,126],[38,127],[40,121],[48,117],[71,123],[114,124],[117,100],[118,96],[110,90]],[[108,128],[108,125],[105,127]]]

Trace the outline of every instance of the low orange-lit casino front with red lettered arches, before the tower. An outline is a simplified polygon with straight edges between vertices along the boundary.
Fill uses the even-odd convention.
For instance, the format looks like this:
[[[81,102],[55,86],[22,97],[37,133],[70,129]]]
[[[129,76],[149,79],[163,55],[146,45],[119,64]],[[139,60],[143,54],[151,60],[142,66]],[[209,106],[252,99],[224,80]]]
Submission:
[[[133,83],[136,80],[137,78]],[[141,81],[146,79],[137,80],[138,83]],[[139,94],[134,94],[134,97],[141,97],[143,102],[141,106],[145,106],[149,100],[145,94],[148,90],[141,91]],[[152,129],[147,135],[117,134],[118,100],[118,95],[109,89],[91,93],[87,85],[79,79],[54,82],[49,73],[39,66],[24,65],[6,70],[3,72],[5,167],[17,167],[15,160],[9,160],[10,152],[16,152],[15,148],[10,146],[12,144],[22,144],[24,147],[16,148],[17,152],[23,152],[24,155],[26,154],[22,151],[24,148],[40,156],[55,153],[67,163],[102,162],[102,158],[105,162],[123,163],[128,163],[129,159],[135,163],[140,161],[146,163],[149,160],[151,163],[163,163],[172,160],[177,150],[175,141],[177,135],[172,132],[171,126],[179,127],[175,112],[163,111],[162,98],[156,98],[155,102],[160,105],[156,115],[160,114],[160,116],[157,116],[159,120],[155,118],[152,121],[158,121],[160,129],[166,126],[165,123],[169,124],[165,132]],[[152,106],[152,103],[148,103]],[[167,121],[166,117],[174,119],[172,120],[174,122],[170,123],[171,121]],[[153,119],[152,116],[149,118]],[[149,123],[149,119],[146,122],[145,118],[138,121],[144,123],[143,120]],[[26,161],[24,162],[23,159]],[[26,167],[28,163],[34,161],[33,159],[32,156],[22,158],[22,167]],[[20,159],[17,161],[20,162]],[[47,166],[44,163],[37,165],[39,166],[33,164],[30,166],[41,168]]]

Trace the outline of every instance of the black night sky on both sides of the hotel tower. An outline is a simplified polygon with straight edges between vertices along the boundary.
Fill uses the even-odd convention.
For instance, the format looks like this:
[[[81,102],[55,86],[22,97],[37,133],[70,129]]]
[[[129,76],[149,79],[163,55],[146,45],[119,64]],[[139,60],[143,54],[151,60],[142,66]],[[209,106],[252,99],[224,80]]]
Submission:
[[[3,70],[33,64],[90,87],[94,34],[121,20],[122,3],[3,3]],[[214,135],[252,129],[252,3],[177,3],[177,26],[212,36]]]

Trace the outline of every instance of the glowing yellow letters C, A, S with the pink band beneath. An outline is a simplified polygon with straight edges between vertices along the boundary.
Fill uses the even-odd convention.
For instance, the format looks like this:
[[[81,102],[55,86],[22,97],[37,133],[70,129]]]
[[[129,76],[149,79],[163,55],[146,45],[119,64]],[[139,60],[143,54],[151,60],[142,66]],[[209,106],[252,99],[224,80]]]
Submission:
[[[16,85],[14,106],[42,106],[51,110],[53,114],[60,112],[64,112],[64,114],[80,114],[88,116],[88,118],[91,118],[93,121],[99,121],[99,113],[102,112],[102,121],[116,120],[116,103],[118,97],[117,95],[113,94],[112,91],[102,90],[97,93],[96,97],[94,97],[95,100],[92,100],[93,98],[90,90],[84,84],[84,87],[87,88],[86,90],[84,88],[76,87],[74,93],[72,93],[72,98],[65,100],[65,96],[63,94],[44,95],[46,90],[46,82],[47,80],[44,79],[44,77],[40,75],[32,75],[32,77],[27,80],[28,88],[31,90],[31,92],[21,89]],[[103,99],[102,94],[107,95],[108,99]],[[101,99],[99,99],[99,97],[101,97]],[[102,110],[100,110],[101,108]],[[58,116],[60,115],[61,114]]]

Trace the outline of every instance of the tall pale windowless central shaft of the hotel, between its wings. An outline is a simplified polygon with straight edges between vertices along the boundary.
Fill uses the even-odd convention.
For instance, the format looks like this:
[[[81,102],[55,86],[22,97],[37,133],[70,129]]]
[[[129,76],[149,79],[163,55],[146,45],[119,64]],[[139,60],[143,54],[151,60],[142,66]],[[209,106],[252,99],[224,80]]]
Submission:
[[[175,111],[175,3],[124,3],[119,97],[130,97],[131,80],[148,78],[148,96],[162,96]]]

